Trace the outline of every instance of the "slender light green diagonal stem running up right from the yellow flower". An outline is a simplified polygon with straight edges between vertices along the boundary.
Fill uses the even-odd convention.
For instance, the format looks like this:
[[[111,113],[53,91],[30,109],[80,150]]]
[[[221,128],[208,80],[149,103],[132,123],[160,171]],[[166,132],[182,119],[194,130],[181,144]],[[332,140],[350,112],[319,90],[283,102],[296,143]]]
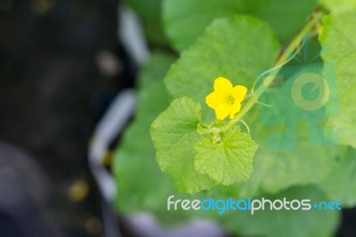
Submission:
[[[242,109],[239,111],[239,113],[236,115],[235,119],[232,119],[225,129],[228,129],[232,126],[234,126],[239,119],[242,119],[242,117],[250,110],[256,102],[258,102],[258,98],[264,93],[264,91],[271,85],[273,81],[273,76],[276,76],[279,73],[279,70],[282,68],[282,66],[288,61],[288,58],[290,56],[290,53],[295,52],[301,42],[303,41],[303,38],[307,36],[312,29],[320,22],[323,14],[320,12],[315,12],[312,15],[312,19],[304,26],[304,28],[299,32],[299,34],[294,38],[294,40],[287,46],[287,49],[282,53],[279,57],[279,60],[275,64],[275,69],[272,70],[268,76],[266,76],[266,79],[264,81],[264,85],[261,85],[258,87],[256,90],[255,94],[252,95],[252,97],[247,101],[245,106],[242,107]]]

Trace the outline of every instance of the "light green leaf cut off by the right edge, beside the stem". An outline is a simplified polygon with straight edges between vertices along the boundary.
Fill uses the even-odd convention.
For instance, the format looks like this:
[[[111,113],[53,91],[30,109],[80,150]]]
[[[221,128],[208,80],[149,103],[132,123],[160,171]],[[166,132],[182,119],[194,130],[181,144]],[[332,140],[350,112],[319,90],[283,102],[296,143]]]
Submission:
[[[336,132],[338,143],[356,147],[356,10],[329,15],[320,42],[325,52],[323,60],[335,66],[340,103],[340,114],[328,120],[328,128]],[[325,70],[324,74],[330,72]]]

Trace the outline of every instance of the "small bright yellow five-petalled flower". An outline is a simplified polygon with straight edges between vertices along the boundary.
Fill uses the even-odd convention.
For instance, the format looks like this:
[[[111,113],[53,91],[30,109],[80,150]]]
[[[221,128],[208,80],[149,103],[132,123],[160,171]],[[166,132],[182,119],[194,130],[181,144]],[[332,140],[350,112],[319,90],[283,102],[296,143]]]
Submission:
[[[232,87],[230,80],[220,77],[214,81],[214,92],[206,96],[206,104],[215,110],[216,119],[223,120],[228,116],[234,119],[246,94],[247,87]]]

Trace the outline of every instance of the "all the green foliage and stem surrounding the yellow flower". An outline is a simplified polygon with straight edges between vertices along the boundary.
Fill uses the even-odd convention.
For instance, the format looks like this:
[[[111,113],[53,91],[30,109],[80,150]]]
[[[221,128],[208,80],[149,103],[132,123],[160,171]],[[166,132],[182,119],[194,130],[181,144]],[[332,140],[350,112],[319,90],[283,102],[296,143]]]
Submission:
[[[154,51],[139,74],[139,107],[115,154],[117,208],[150,211],[166,223],[213,218],[247,236],[335,233],[337,211],[219,215],[167,211],[166,199],[356,205],[354,1],[320,0],[315,11],[306,0],[158,2],[180,53]],[[219,77],[247,87],[231,119],[216,118],[206,104]]]

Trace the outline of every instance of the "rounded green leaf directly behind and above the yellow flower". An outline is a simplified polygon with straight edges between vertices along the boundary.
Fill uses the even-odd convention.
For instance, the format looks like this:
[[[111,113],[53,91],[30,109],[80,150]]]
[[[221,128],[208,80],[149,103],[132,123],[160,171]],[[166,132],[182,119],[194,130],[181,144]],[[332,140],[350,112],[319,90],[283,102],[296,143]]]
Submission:
[[[251,88],[256,71],[271,68],[278,53],[276,37],[260,20],[247,16],[214,20],[171,67],[166,87],[174,98],[189,96],[208,111],[205,97],[213,91],[215,78],[223,76]],[[212,119],[213,113],[207,116]]]

